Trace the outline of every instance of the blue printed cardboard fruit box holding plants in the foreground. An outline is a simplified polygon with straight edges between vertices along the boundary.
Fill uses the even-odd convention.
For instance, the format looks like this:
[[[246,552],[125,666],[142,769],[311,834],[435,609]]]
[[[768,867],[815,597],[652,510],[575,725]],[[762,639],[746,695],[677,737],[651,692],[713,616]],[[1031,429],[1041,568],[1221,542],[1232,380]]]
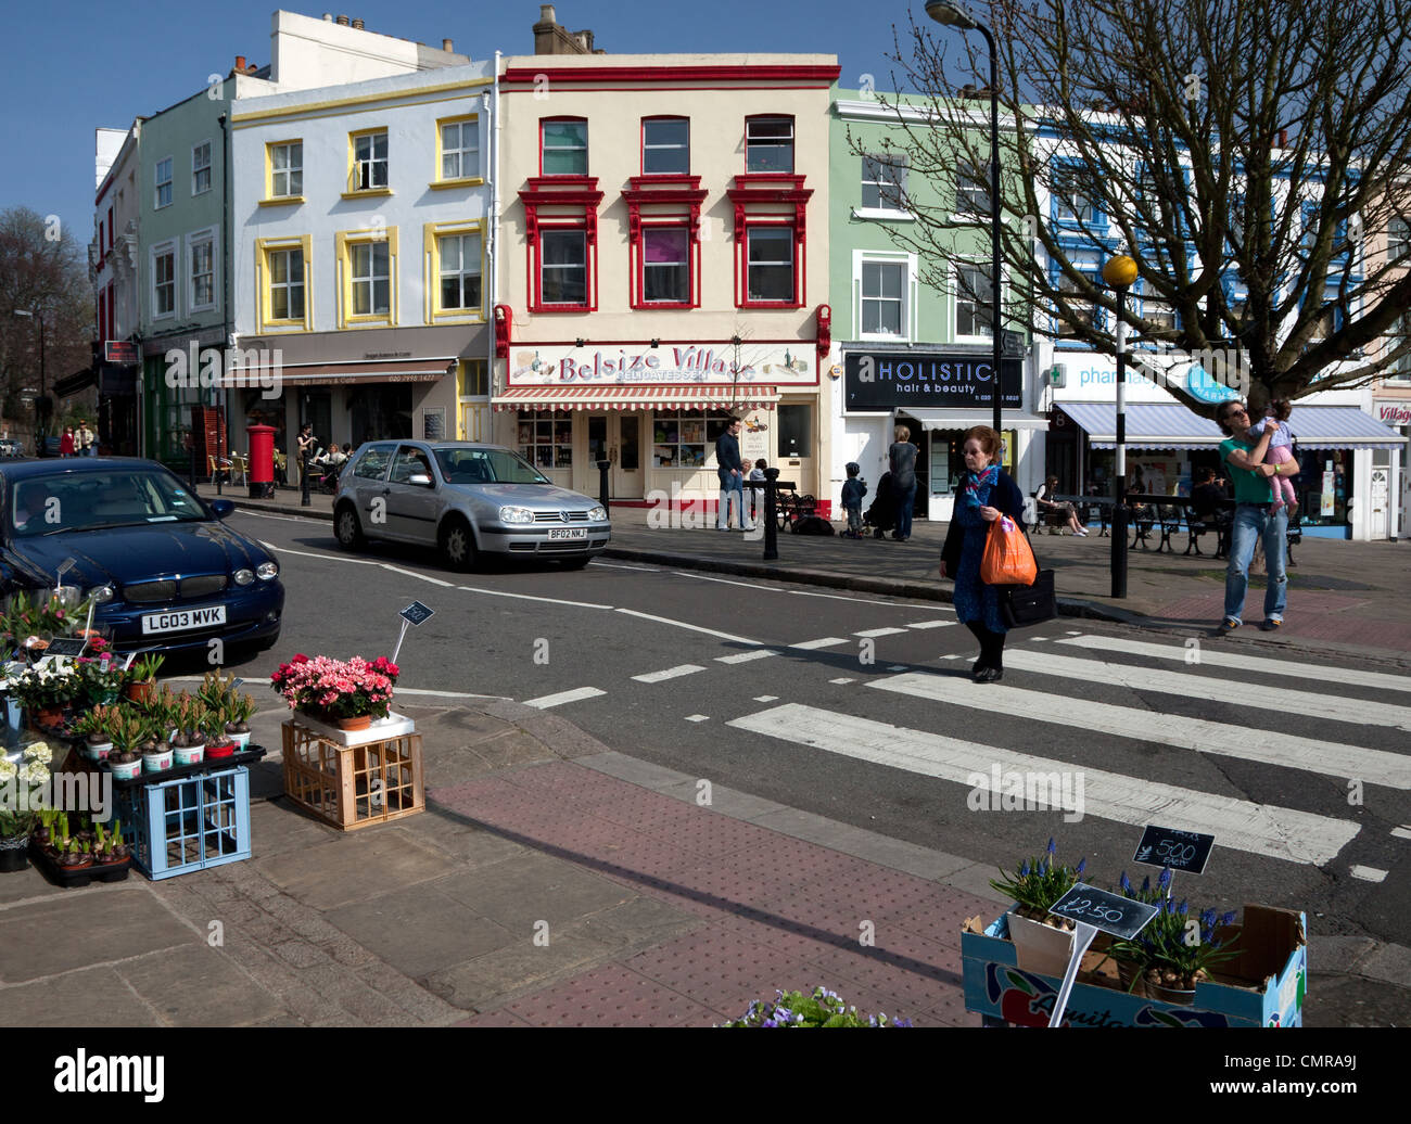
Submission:
[[[1246,905],[1239,956],[1218,980],[1195,987],[1182,1007],[1133,996],[1108,975],[1079,972],[1064,1011],[1065,1027],[1300,1027],[1308,980],[1307,915]],[[965,1010],[1016,1027],[1047,1027],[1061,976],[1019,967],[1007,914],[985,932],[961,934]],[[1095,966],[1095,965],[1091,965]],[[1085,958],[1084,967],[1089,967]],[[1110,962],[1102,972],[1110,967]],[[1110,983],[1112,986],[1105,986]]]

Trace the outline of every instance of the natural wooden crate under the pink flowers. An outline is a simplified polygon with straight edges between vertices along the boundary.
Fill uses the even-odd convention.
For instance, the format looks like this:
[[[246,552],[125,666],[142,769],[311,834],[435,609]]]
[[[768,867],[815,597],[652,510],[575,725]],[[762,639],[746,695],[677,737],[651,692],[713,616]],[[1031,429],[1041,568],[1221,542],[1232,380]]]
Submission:
[[[422,736],[339,735],[298,718],[284,723],[284,791],[341,831],[426,811]]]

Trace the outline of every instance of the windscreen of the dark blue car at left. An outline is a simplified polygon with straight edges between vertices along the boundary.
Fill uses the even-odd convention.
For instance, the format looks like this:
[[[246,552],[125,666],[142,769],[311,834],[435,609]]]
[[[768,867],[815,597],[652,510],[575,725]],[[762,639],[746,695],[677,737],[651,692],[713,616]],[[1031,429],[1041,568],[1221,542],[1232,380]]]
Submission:
[[[7,513],[16,537],[210,518],[175,477],[131,470],[16,481]]]

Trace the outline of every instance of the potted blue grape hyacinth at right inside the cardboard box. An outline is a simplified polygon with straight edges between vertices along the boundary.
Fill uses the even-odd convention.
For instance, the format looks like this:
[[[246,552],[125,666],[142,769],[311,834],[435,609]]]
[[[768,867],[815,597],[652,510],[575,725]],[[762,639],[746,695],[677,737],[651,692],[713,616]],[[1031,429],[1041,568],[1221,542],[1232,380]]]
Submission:
[[[1173,903],[1167,896],[1171,884],[1170,867],[1161,870],[1157,886],[1146,879],[1136,890],[1126,872],[1119,886],[1123,896],[1150,905],[1160,912],[1129,941],[1113,941],[1109,955],[1118,962],[1118,972],[1129,991],[1144,990],[1163,1003],[1189,1006],[1195,1003],[1195,984],[1211,979],[1211,969],[1239,955],[1232,948],[1235,914],[1216,917],[1215,910],[1199,914],[1198,934],[1187,920],[1185,901]],[[1192,936],[1198,939],[1192,941]]]

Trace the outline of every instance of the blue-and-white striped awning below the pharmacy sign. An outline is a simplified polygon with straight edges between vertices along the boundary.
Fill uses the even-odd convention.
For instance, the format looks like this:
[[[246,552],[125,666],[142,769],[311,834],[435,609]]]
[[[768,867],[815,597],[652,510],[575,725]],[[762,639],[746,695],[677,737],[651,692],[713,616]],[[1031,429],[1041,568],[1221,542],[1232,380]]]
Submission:
[[[1118,408],[1110,402],[1060,402],[1086,432],[1094,448],[1118,443]],[[1288,427],[1300,448],[1395,448],[1405,437],[1356,406],[1294,406]],[[1127,448],[1215,448],[1225,440],[1221,427],[1185,406],[1164,402],[1127,405]]]

